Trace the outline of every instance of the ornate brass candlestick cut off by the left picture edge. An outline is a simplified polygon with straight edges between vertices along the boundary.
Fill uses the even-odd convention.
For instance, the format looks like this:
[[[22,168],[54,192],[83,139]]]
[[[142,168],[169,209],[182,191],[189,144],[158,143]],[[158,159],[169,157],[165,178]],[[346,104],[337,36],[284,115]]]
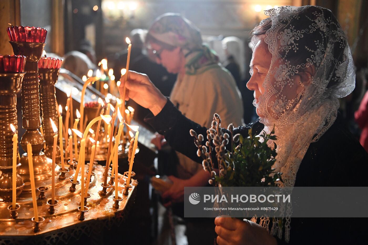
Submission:
[[[20,91],[22,79],[25,73],[1,73],[0,74],[0,196],[5,202],[12,200],[13,180],[13,131],[17,123],[17,95]],[[17,146],[18,153],[18,146]],[[17,154],[17,169],[21,164]],[[19,174],[17,178],[17,196],[24,188],[24,182]]]

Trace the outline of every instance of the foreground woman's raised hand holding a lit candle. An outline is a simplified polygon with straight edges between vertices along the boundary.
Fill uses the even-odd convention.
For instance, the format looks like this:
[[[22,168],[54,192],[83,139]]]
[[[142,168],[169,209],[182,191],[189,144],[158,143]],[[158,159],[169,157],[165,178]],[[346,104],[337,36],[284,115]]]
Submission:
[[[167,102],[166,97],[152,84],[147,75],[135,71],[129,71],[127,75],[124,99],[134,100],[139,105],[151,110],[154,116],[159,114]],[[120,78],[120,82],[119,92],[120,96],[123,97],[124,76]]]

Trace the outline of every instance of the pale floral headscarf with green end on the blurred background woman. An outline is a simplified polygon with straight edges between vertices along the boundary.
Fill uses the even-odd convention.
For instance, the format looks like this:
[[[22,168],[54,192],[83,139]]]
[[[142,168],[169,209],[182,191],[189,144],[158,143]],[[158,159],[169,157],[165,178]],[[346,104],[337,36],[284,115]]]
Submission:
[[[219,62],[215,52],[202,43],[199,29],[179,14],[166,13],[159,16],[149,28],[148,36],[159,42],[181,47],[187,61],[185,72],[188,75],[202,73],[206,70],[204,67]]]

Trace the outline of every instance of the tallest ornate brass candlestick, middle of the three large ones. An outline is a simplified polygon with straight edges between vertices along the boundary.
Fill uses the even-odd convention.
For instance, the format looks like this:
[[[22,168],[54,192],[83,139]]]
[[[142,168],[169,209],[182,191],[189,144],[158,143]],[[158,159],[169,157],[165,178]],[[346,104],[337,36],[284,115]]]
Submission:
[[[41,58],[45,43],[33,42],[10,42],[13,52],[16,55],[24,55],[26,63],[24,79],[22,82],[22,123],[26,129],[20,144],[23,150],[27,151],[27,144],[32,145],[32,159],[35,171],[36,186],[40,182],[52,178],[52,163],[47,162],[47,158],[41,152],[45,139],[39,132],[40,123],[40,94],[38,82],[38,61]],[[19,174],[24,182],[29,182],[28,155],[24,153],[20,159],[22,164]],[[23,191],[31,191],[31,185],[24,187]]]

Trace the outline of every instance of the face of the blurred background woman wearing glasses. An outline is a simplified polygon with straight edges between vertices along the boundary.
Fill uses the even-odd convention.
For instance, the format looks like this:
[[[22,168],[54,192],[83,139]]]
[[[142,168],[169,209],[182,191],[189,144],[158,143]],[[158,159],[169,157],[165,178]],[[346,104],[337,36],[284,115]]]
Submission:
[[[181,70],[183,64],[182,54],[180,47],[176,47],[173,50],[163,49],[161,45],[151,42],[151,49],[155,54],[155,62],[162,64],[166,70],[172,74],[177,74]]]

